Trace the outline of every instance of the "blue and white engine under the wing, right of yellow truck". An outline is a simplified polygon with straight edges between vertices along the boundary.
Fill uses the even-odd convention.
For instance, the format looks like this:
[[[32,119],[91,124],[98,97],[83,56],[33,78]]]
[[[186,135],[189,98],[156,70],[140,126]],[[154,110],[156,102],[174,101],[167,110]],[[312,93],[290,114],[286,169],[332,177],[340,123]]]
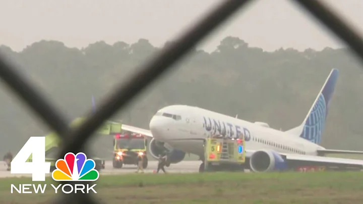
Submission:
[[[282,171],[287,163],[276,151],[258,150],[250,158],[250,167],[254,172]]]

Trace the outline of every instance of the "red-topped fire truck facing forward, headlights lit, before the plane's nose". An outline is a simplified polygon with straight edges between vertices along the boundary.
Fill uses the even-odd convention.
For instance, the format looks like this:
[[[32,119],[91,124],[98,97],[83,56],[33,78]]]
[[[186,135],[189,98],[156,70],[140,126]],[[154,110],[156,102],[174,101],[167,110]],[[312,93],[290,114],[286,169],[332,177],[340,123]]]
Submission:
[[[144,135],[132,132],[115,134],[113,139],[113,168],[119,169],[123,165],[138,165],[137,158],[142,156],[143,168],[148,166],[146,155],[147,140]]]

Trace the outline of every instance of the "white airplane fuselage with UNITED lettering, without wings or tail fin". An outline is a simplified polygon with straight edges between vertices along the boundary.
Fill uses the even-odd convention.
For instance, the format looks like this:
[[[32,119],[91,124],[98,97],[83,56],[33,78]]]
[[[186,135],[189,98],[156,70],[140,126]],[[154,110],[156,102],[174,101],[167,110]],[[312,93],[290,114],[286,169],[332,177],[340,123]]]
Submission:
[[[281,153],[316,156],[317,149],[325,149],[296,135],[185,105],[160,109],[150,121],[150,131],[157,141],[198,156],[204,155],[204,139],[218,133],[231,137],[244,134],[248,150],[271,149]]]

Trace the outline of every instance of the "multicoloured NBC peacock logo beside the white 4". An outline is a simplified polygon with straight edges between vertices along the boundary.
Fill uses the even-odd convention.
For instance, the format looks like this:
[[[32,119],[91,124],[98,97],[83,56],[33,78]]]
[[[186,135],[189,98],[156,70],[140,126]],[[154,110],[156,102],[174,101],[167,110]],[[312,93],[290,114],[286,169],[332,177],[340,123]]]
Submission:
[[[54,181],[96,181],[99,172],[94,169],[95,166],[95,162],[87,159],[83,152],[77,155],[68,152],[64,159],[55,162],[52,178]]]

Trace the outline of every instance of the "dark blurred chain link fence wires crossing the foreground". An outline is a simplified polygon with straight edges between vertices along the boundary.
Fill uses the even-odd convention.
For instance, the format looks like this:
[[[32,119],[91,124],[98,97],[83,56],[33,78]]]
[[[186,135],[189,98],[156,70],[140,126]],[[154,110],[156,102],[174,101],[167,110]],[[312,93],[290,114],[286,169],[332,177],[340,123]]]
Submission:
[[[317,20],[328,27],[335,35],[349,45],[353,53],[363,62],[363,40],[352,28],[338,17],[331,9],[318,0],[291,0],[306,9]],[[207,34],[243,8],[252,0],[226,0],[202,18],[194,27],[177,40],[164,47],[152,60],[140,67],[129,81],[120,84],[113,94],[102,101],[95,113],[89,114],[85,123],[70,129],[69,122],[52,104],[44,99],[34,86],[27,81],[16,67],[7,63],[0,56],[0,77],[39,116],[51,129],[62,137],[62,150],[59,158],[67,152],[79,152],[91,134],[118,109],[125,106],[143,88],[167,71],[171,65],[184,57]],[[57,203],[98,203],[90,194],[67,194],[56,200]]]

